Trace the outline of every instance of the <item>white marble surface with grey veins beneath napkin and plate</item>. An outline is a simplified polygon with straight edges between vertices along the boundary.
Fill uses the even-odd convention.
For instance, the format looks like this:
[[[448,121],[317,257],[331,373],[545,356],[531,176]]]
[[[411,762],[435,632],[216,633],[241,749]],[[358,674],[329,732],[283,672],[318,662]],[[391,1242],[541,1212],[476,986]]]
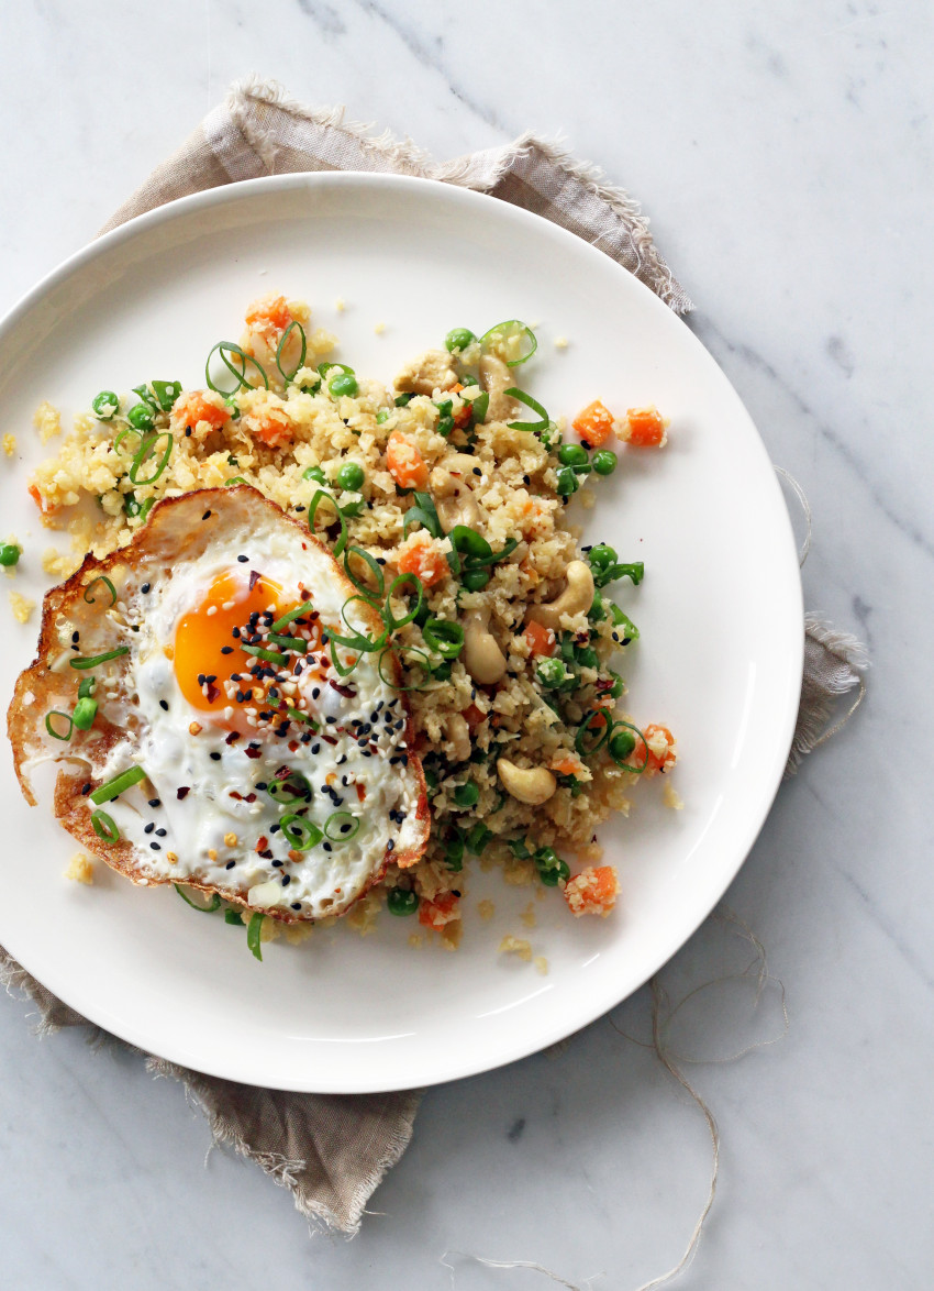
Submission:
[[[534,21],[530,21],[534,13]],[[5,6],[0,307],[103,223],[250,71],[437,156],[564,130],[637,195],[691,325],[814,507],[806,599],[873,652],[859,718],[787,785],[728,901],[791,1029],[691,1068],[722,1132],[685,1287],[931,1285],[931,10],[917,0],[615,6],[27,0]],[[868,791],[867,791],[868,790]],[[738,945],[702,930],[672,990]],[[689,1017],[729,1053],[774,988]],[[446,1288],[446,1250],[635,1287],[680,1255],[703,1119],[650,1055],[645,991],[561,1056],[428,1093],[351,1243],[214,1153],[178,1087],[0,1001],[0,1234],[15,1288]],[[689,1038],[690,1039],[690,1038]],[[689,1039],[684,1043],[688,1044]],[[458,1291],[546,1286],[454,1259]]]

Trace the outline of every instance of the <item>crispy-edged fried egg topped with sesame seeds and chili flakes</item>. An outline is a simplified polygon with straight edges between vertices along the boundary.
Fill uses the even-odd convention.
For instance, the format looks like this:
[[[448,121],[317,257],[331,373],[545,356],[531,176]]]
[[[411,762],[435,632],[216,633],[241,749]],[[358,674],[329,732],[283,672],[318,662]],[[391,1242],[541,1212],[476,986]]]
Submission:
[[[330,657],[342,611],[372,639],[382,630],[370,605],[348,605],[356,595],[330,551],[248,485],[154,507],[128,547],[46,596],[9,714],[27,798],[32,767],[65,759],[77,769],[59,773],[55,815],[135,882],[285,920],[344,913],[428,835],[388,656],[337,647],[343,667],[357,660],[346,676]],[[45,713],[72,711],[89,676],[94,724],[55,740]],[[133,768],[144,778],[102,800]]]

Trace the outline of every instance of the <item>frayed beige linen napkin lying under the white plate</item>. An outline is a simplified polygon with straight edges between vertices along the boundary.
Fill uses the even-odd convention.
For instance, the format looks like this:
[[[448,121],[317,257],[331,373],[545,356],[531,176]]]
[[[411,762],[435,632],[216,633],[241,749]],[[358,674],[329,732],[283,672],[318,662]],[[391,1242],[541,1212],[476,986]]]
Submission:
[[[672,310],[691,309],[681,285],[658,253],[648,221],[622,190],[608,187],[592,167],[553,143],[524,134],[515,143],[453,161],[436,163],[410,142],[372,137],[348,125],[342,110],[311,110],[288,102],[275,85],[255,80],[234,86],[103,231],[133,216],[191,192],[235,179],[306,170],[379,170],[414,174],[492,194],[569,229],[635,274]],[[827,729],[841,695],[863,695],[862,647],[810,616],[805,620],[805,679],[788,773]],[[853,711],[853,707],[850,711]],[[846,720],[849,713],[842,718]],[[0,981],[36,1003],[39,1029],[89,1025],[55,999],[0,949]],[[201,1075],[159,1057],[147,1057],[155,1075],[182,1081],[208,1117],[215,1143],[231,1144],[277,1184],[298,1210],[352,1234],[386,1171],[412,1137],[421,1093],[283,1093]]]

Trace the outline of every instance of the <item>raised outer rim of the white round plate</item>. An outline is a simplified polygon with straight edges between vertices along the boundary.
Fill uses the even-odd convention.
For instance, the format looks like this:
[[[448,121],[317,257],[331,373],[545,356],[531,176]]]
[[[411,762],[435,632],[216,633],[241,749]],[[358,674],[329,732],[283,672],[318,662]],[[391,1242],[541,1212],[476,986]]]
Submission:
[[[19,323],[30,314],[30,311],[41,302],[43,297],[50,290],[55,289],[61,284],[67,283],[67,280],[84,270],[88,265],[94,261],[106,257],[114,249],[121,247],[126,241],[144,235],[152,229],[157,229],[160,225],[172,223],[175,219],[184,218],[190,213],[199,213],[205,209],[210,209],[214,205],[227,205],[236,204],[244,198],[249,196],[259,190],[271,191],[307,191],[313,196],[313,190],[316,188],[352,188],[355,186],[363,187],[382,187],[382,188],[423,188],[426,192],[432,192],[435,196],[444,194],[442,200],[450,199],[454,203],[462,203],[467,207],[477,204],[479,207],[486,207],[489,210],[495,210],[497,218],[503,218],[507,222],[513,222],[516,225],[526,225],[528,227],[535,227],[539,230],[547,229],[550,235],[553,235],[559,241],[564,241],[569,248],[573,247],[577,254],[584,254],[590,257],[597,257],[604,269],[610,267],[610,274],[624,275],[627,289],[632,289],[633,284],[636,287],[637,294],[644,293],[644,300],[650,301],[650,309],[663,310],[673,321],[679,323],[685,336],[689,338],[688,343],[697,347],[703,352],[706,360],[712,364],[725,386],[731,392],[738,416],[744,420],[748,431],[752,434],[753,443],[757,451],[765,458],[765,462],[771,469],[771,460],[769,451],[766,448],[765,440],[762,439],[752,416],[746,408],[743,400],[740,399],[738,391],[734,389],[726,373],[722,371],[720,364],[716,361],[713,355],[707,350],[698,336],[686,325],[684,319],[677,315],[668,305],[666,305],[645,283],[640,281],[627,269],[614,261],[610,256],[606,256],[602,250],[591,244],[586,243],[578,235],[564,229],[562,226],[555,223],[553,221],[546,219],[532,210],[522,207],[516,207],[511,203],[502,201],[493,198],[485,192],[477,192],[472,188],[463,188],[457,185],[442,183],[437,179],[427,179],[415,176],[405,174],[386,174],[378,172],[368,170],[341,170],[341,172],[297,172],[292,174],[279,174],[279,176],[261,176],[252,179],[236,181],[226,185],[219,185],[214,188],[208,188],[201,192],[188,194],[183,198],[177,198],[173,201],[164,203],[160,207],[155,207],[151,210],[143,212],[139,216],[133,217],[125,223],[116,229],[110,230],[106,234],[99,235],[93,241],[80,247],[71,256],[65,258],[61,263],[46,272],[40,280],[23,293],[15,303],[4,314],[0,319],[0,347],[6,341],[6,337],[19,325]],[[431,199],[430,199],[431,200]],[[596,262],[596,261],[595,261]],[[788,514],[784,494],[782,493],[778,476],[773,475],[773,484],[775,496],[780,502],[780,513],[784,515],[786,527],[786,545],[788,546],[790,555],[795,558],[795,568],[797,568],[796,559],[796,544],[793,538],[793,531],[791,525],[791,516]],[[804,616],[804,596],[800,574],[796,580],[790,580],[790,591],[795,595],[795,613],[799,621],[802,621]],[[804,627],[801,627],[800,634],[796,636],[797,648],[793,660],[788,661],[788,682],[790,682],[790,695],[800,693],[800,680],[804,675],[804,642],[805,634]],[[791,687],[791,683],[797,678],[797,686]],[[787,762],[788,751],[792,745],[795,726],[797,719],[799,706],[790,698],[787,704],[787,711],[784,715],[784,729],[782,733],[782,740],[778,737],[775,740],[773,763],[769,768],[768,777],[762,776],[761,798],[756,804],[756,809],[748,813],[748,825],[742,831],[740,840],[735,844],[735,862],[730,862],[725,871],[721,871],[720,880],[715,883],[715,895],[710,904],[699,902],[691,909],[691,913],[677,920],[667,935],[659,939],[659,948],[657,953],[650,957],[650,967],[630,989],[624,990],[624,994],[617,995],[609,1002],[602,997],[599,998],[595,1007],[582,1008],[573,1024],[568,1024],[566,1020],[559,1021],[551,1032],[541,1029],[534,1037],[532,1043],[528,1039],[512,1047],[508,1053],[494,1053],[481,1057],[479,1061],[461,1061],[455,1062],[457,1070],[448,1070],[444,1074],[432,1074],[428,1079],[428,1084],[444,1084],[450,1081],[462,1079],[471,1075],[479,1075],[484,1072],[494,1070],[499,1066],[508,1065],[510,1062],[520,1061],[533,1053],[541,1052],[550,1044],[556,1043],[568,1035],[574,1034],[584,1026],[591,1025],[597,1019],[602,1017],[610,1010],[618,1007],[623,1001],[628,999],[632,994],[640,990],[646,981],[649,981],[659,968],[667,963],[672,955],[675,955],[685,942],[693,936],[693,933],[700,927],[700,924],[708,918],[711,910],[716,906],[717,901],[722,897],[724,892],[734,882],[737,874],[746,864],[750,852],[752,851],[756,839],[759,838],[768,817],[771,811],[773,803],[782,785],[782,773]],[[14,939],[15,940],[15,939]],[[32,975],[27,962],[23,962],[23,957],[14,954],[19,963],[26,968],[27,972]],[[25,957],[28,961],[28,953]],[[54,977],[54,975],[53,975]],[[40,979],[36,979],[40,980]],[[46,989],[53,990],[52,986]],[[142,1034],[141,1029],[137,1029],[132,1021],[124,1022],[120,1020],[120,1025],[114,1026],[112,1020],[107,1017],[107,1011],[104,1007],[99,1010],[95,1007],[88,1008],[86,1003],[71,1004],[68,1001],[67,984],[66,989],[61,989],[61,984],[57,982],[54,986],[54,994],[58,995],[68,1007],[79,1011],[90,1024],[103,1026],[124,1039],[126,1043],[134,1044],[143,1050],[151,1051],[151,1046],[147,1043],[147,1038]],[[224,1070],[222,1066],[212,1065],[209,1061],[197,1061],[192,1064],[191,1056],[184,1052],[179,1052],[183,1046],[177,1046],[173,1052],[172,1046],[160,1044],[160,1056],[166,1057],[169,1061],[182,1062],[186,1066],[192,1068],[206,1075],[219,1077],[223,1079],[235,1081],[249,1081],[249,1083],[261,1083],[254,1078],[244,1078],[241,1074],[231,1074],[230,1069]],[[370,1081],[357,1081],[357,1082],[334,1082],[334,1081],[315,1081],[313,1073],[310,1073],[312,1083],[307,1082],[297,1083],[295,1081],[286,1081],[284,1083],[266,1083],[262,1082],[264,1087],[292,1091],[292,1092],[320,1092],[320,1093],[381,1093],[390,1092],[393,1090],[410,1090],[418,1088],[426,1084],[424,1079],[412,1079],[404,1084],[392,1082],[386,1084],[378,1078]]]

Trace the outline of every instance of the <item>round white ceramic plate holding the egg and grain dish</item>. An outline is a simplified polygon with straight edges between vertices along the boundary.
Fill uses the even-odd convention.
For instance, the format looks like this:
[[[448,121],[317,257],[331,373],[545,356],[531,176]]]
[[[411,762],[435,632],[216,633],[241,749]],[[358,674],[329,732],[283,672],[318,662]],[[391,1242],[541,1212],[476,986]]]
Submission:
[[[275,289],[308,300],[339,358],[391,380],[449,328],[504,318],[537,325],[522,383],[552,412],[599,396],[657,403],[664,452],[623,452],[581,511],[590,541],[645,560],[623,607],[642,631],[624,664],[637,719],[670,726],[685,809],[645,784],[630,820],[601,830],[622,899],[573,919],[555,889],[466,875],[457,954],[413,950],[415,920],[384,915],[365,939],[319,930],[264,949],[191,911],[172,888],[134,888],[98,865],[93,887],[62,877],[75,843],[19,795],[0,753],[0,944],[86,1017],[201,1072],[285,1090],[365,1092],[448,1081],[522,1057],[611,1008],[700,923],[743,862],[775,794],[801,683],[801,590],[786,507],[762,443],[688,328],[610,259],[501,201],[418,179],[316,174],[232,185],[143,216],[80,252],[0,327],[3,534],[26,546],[15,581],[36,599],[55,541],[26,494],[49,449],[41,399],[68,416],[101,387],[151,377],[203,383],[212,345]],[[346,309],[338,302],[344,301]],[[377,333],[377,324],[384,330]],[[566,349],[557,349],[566,337]],[[63,540],[58,540],[62,541]],[[0,605],[0,701],[34,656],[28,626]],[[480,897],[495,902],[484,923]],[[520,918],[534,904],[535,926]],[[530,940],[547,975],[497,948]]]

